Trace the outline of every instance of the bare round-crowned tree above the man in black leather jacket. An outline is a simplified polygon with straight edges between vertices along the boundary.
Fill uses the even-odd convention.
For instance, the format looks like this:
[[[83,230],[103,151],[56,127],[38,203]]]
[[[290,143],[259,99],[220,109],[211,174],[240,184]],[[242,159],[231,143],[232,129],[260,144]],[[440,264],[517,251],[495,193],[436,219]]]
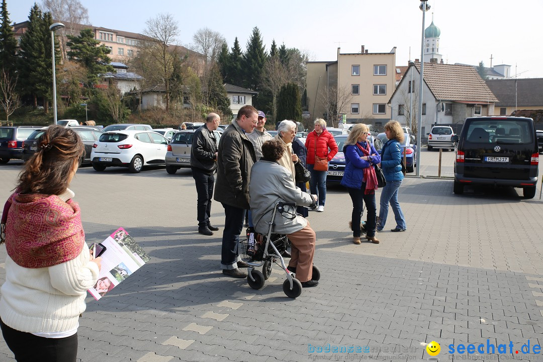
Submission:
[[[213,31],[209,28],[199,29],[192,36],[193,43],[189,46],[191,50],[201,53],[204,55],[204,69],[202,75],[202,84],[209,85],[211,84],[211,68],[217,62],[220,50],[223,46],[223,43],[226,42],[224,36],[218,31]],[[209,95],[212,90],[210,87],[205,87],[204,89],[204,101],[209,103]]]

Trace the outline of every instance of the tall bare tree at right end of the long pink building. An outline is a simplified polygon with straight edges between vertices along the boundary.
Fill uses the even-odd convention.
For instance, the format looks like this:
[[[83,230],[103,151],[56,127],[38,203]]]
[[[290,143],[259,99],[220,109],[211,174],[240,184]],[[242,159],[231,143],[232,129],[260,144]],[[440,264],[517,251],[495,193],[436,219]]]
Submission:
[[[174,72],[175,57],[179,56],[176,47],[171,47],[179,36],[179,25],[172,14],[159,14],[146,21],[147,36],[140,47],[140,53],[147,62],[149,74],[155,84],[163,84],[166,90],[166,110],[169,111],[170,80]]]

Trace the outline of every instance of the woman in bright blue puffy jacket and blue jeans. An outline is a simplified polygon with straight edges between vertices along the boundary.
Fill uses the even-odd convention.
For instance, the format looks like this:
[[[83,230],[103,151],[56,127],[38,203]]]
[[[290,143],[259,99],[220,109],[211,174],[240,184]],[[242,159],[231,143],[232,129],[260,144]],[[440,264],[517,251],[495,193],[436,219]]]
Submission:
[[[392,207],[396,219],[396,227],[390,231],[406,231],[406,219],[403,217],[402,208],[398,202],[398,189],[403,180],[402,148],[400,145],[400,142],[403,142],[403,129],[399,122],[391,120],[384,125],[384,133],[387,135],[388,142],[383,145],[381,150],[381,164],[379,166],[383,169],[387,185],[383,187],[381,192],[381,209],[377,219],[377,231],[383,230],[384,224],[387,223],[388,204]]]

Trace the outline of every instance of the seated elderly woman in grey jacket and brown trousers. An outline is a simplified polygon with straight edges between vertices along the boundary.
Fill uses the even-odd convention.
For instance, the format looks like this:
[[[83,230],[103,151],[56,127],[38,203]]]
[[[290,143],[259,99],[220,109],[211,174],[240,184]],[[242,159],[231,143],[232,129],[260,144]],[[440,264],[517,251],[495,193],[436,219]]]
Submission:
[[[286,152],[285,142],[272,139],[262,145],[263,157],[251,169],[249,182],[252,221],[257,233],[266,234],[277,202],[295,202],[296,205],[317,207],[313,196],[294,185],[293,175],[279,164]],[[291,161],[292,162],[292,161]],[[285,206],[285,211],[275,215],[274,232],[287,234],[292,243],[292,257],[288,270],[296,274],[302,287],[314,287],[312,280],[315,232],[309,222],[296,214],[295,206]]]

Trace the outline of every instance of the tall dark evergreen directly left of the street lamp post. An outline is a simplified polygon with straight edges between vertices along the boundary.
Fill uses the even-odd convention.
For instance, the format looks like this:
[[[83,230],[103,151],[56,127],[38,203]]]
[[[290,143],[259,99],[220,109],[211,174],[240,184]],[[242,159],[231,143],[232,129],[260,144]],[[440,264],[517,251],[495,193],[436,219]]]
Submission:
[[[33,98],[43,98],[43,106],[48,111],[48,100],[52,93],[53,71],[51,59],[51,32],[53,20],[49,12],[43,14],[37,4],[30,9],[27,31],[21,36],[20,61],[18,62],[18,81],[21,94]],[[58,56],[58,44],[55,56]]]

